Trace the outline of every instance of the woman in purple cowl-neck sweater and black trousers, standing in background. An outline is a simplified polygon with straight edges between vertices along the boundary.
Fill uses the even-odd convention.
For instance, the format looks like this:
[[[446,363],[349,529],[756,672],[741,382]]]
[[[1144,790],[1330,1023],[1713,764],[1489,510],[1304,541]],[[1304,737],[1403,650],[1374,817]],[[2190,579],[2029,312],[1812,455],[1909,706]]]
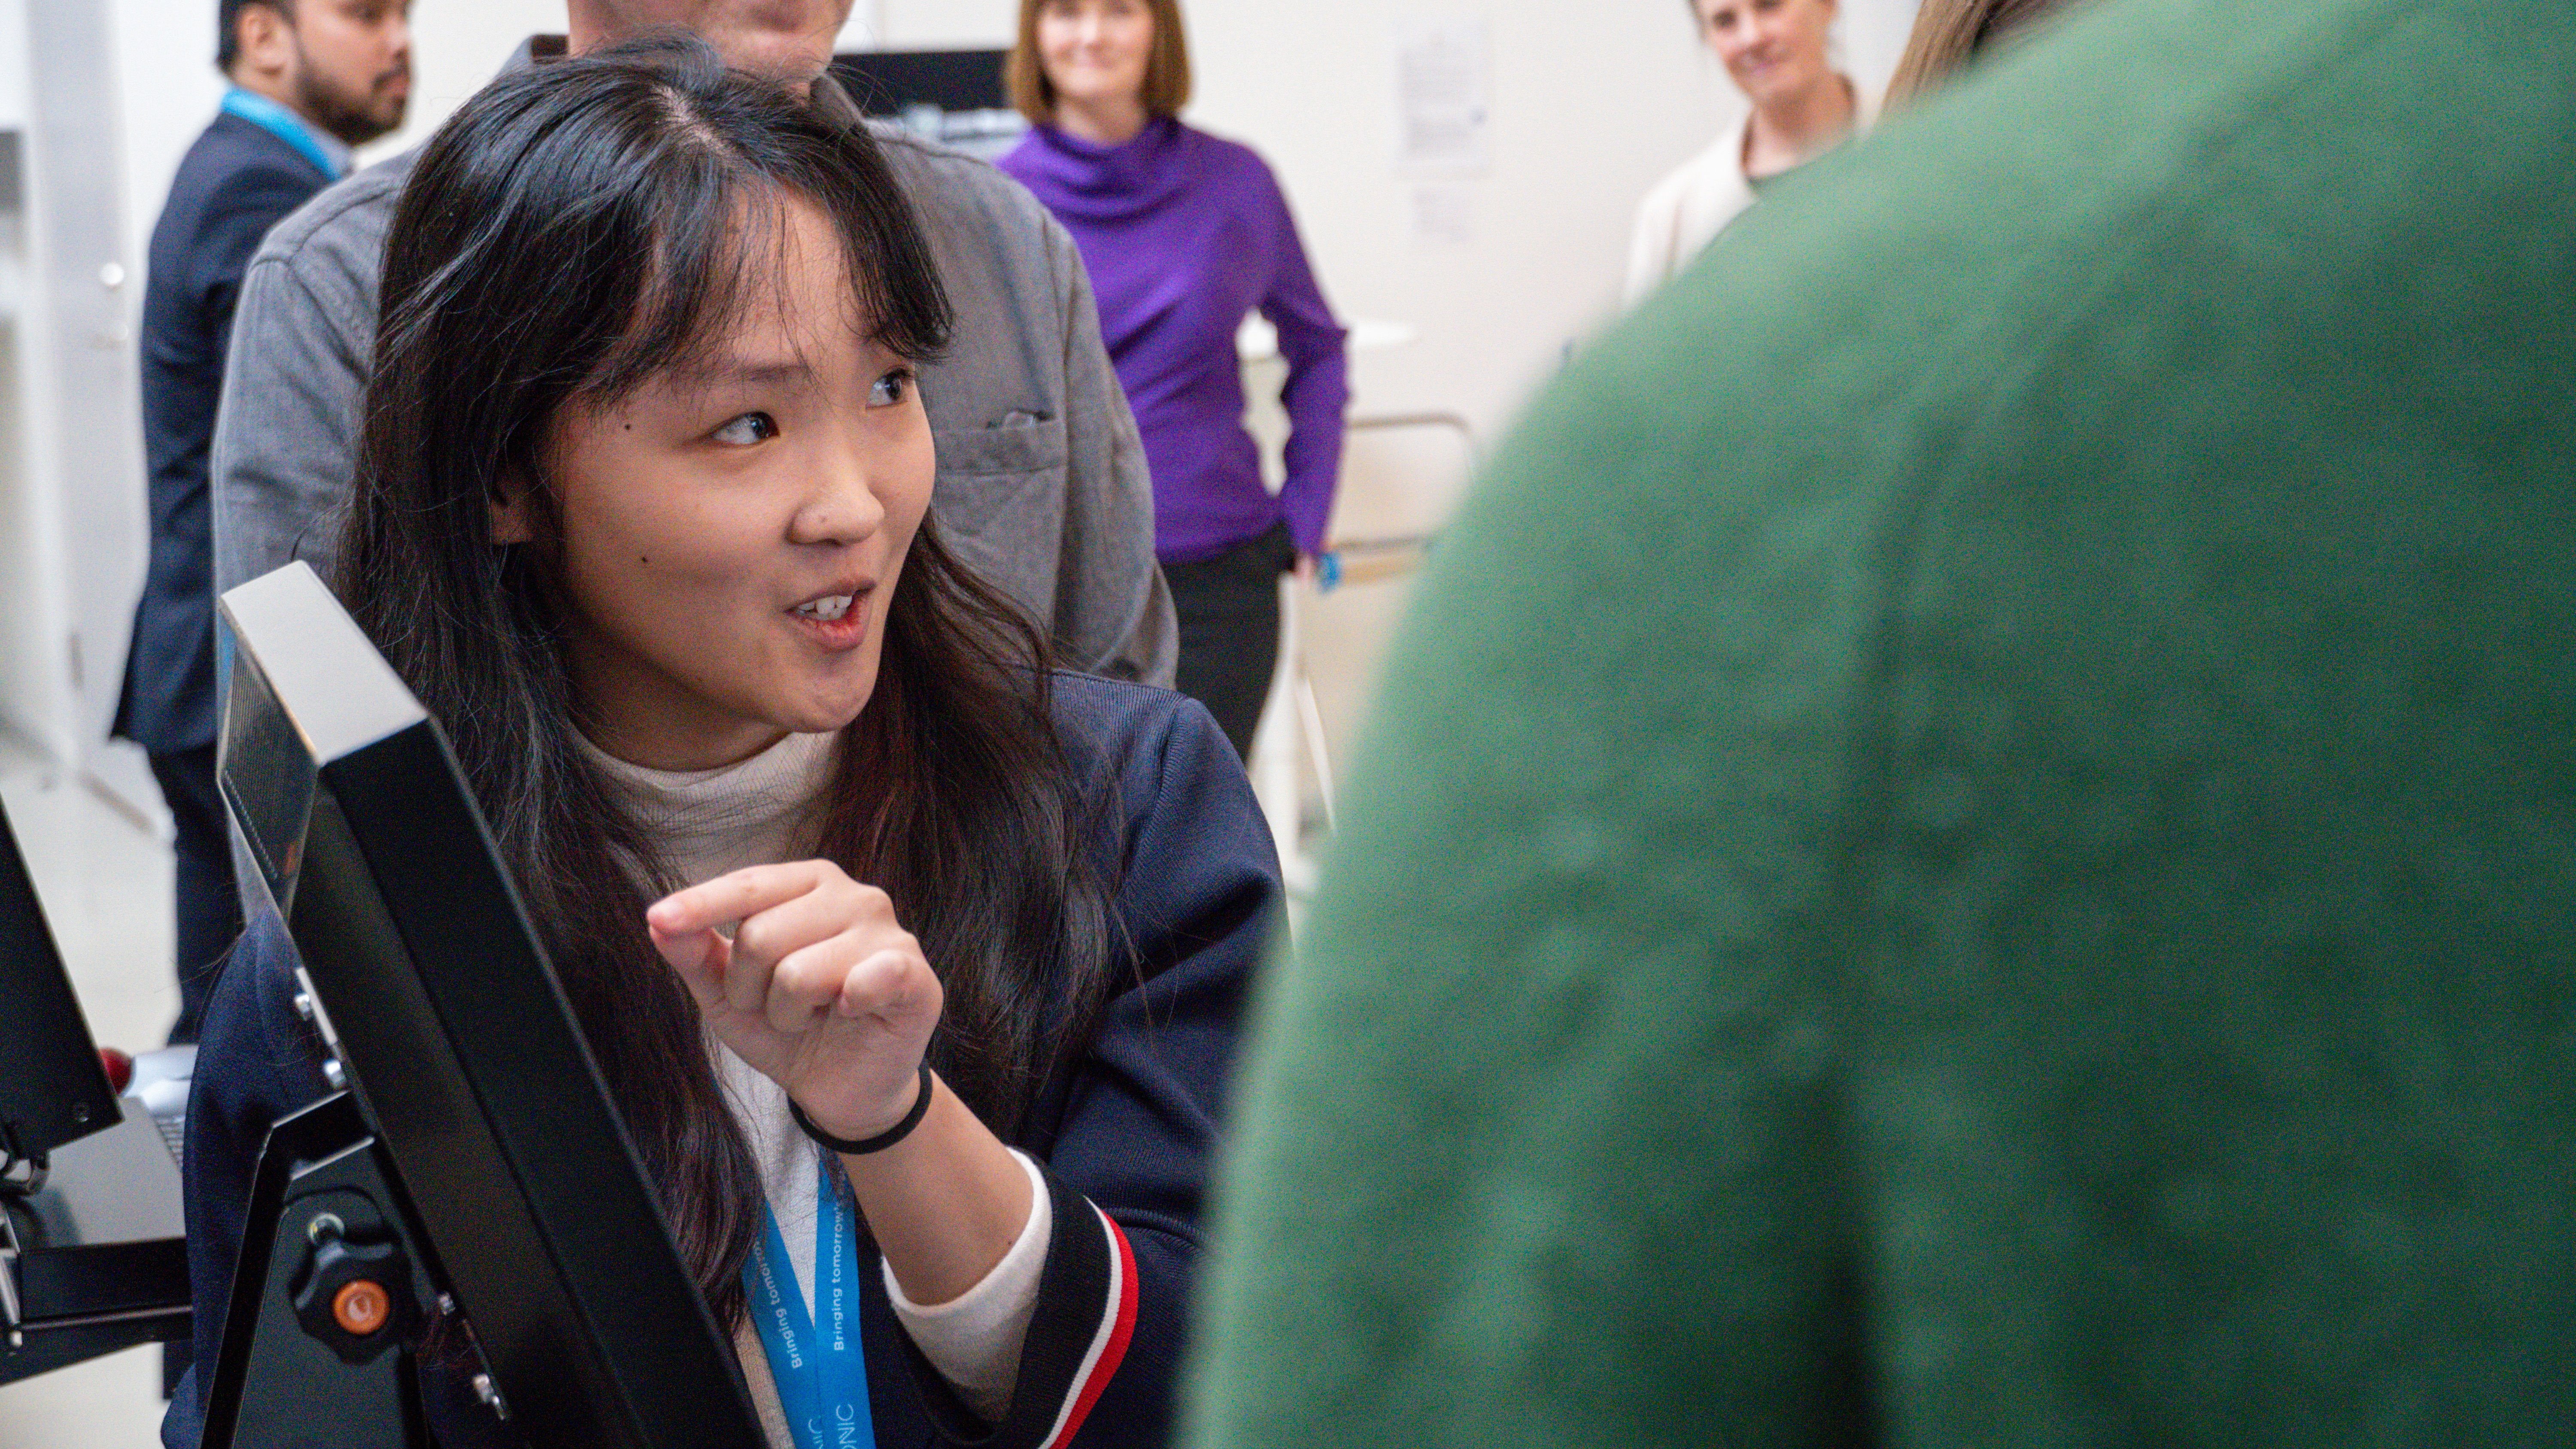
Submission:
[[[1020,0],[1002,157],[1064,221],[1154,471],[1154,553],[1180,613],[1180,690],[1249,754],[1278,664],[1278,577],[1324,551],[1350,383],[1288,198],[1249,147],[1182,126],[1180,0]],[[1234,332],[1260,309],[1288,360],[1288,481],[1262,486]]]

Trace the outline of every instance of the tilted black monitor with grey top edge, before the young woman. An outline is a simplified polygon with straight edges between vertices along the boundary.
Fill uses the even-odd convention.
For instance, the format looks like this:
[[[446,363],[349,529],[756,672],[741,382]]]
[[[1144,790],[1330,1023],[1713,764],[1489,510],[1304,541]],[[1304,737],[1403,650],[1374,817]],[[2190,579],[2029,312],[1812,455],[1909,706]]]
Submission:
[[[513,1423],[531,1444],[757,1446],[438,723],[304,564],[227,592],[222,618],[224,798]]]

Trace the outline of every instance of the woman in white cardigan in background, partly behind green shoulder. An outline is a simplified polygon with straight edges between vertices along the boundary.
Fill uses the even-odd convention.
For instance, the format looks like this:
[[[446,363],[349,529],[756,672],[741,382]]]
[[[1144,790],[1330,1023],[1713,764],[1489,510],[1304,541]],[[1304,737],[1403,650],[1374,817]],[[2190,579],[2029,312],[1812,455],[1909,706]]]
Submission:
[[[1690,13],[1752,111],[1646,193],[1628,247],[1631,306],[1687,268],[1762,183],[1839,147],[1875,113],[1826,57],[1837,0],[1690,0]]]

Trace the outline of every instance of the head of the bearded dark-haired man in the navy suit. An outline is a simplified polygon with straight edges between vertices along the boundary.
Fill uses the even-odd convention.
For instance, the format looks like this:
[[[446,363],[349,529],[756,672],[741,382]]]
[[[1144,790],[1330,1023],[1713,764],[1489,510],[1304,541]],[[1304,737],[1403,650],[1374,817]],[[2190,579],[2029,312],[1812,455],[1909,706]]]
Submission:
[[[214,64],[361,147],[412,100],[410,0],[222,0]]]

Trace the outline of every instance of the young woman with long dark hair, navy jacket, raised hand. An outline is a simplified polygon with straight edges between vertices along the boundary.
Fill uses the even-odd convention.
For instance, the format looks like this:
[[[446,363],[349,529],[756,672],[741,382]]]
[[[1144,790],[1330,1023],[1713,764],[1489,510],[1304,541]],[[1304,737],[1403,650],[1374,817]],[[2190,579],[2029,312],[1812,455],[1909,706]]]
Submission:
[[[770,1441],[819,1390],[762,1295],[811,1302],[848,1215],[881,1444],[1154,1444],[1275,862],[1206,710],[1051,674],[940,546],[945,324],[881,157],[796,93],[696,41],[505,77],[394,214],[337,587],[448,728]],[[291,968],[265,921],[209,1017],[201,1333],[319,1089]]]

